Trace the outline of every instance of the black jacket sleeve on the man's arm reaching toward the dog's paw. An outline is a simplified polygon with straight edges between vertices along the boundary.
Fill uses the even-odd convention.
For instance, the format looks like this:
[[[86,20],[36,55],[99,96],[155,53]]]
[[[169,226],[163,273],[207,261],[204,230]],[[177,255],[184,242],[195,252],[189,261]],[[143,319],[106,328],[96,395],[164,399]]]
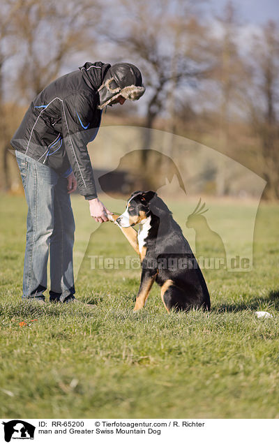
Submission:
[[[62,102],[61,123],[66,153],[73,168],[80,194],[86,199],[97,197],[87,144],[91,139],[93,103],[80,94],[66,97]]]

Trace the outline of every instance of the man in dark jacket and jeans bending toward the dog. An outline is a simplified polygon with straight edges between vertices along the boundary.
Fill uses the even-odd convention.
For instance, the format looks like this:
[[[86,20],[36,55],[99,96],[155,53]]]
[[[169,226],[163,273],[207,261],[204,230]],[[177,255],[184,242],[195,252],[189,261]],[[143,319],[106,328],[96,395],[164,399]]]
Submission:
[[[86,148],[98,133],[103,108],[144,94],[132,64],[98,61],[52,82],[33,100],[11,145],[27,198],[23,299],[45,302],[50,255],[50,302],[76,302],[75,221],[70,193],[79,188],[95,221],[110,211],[98,199]]]

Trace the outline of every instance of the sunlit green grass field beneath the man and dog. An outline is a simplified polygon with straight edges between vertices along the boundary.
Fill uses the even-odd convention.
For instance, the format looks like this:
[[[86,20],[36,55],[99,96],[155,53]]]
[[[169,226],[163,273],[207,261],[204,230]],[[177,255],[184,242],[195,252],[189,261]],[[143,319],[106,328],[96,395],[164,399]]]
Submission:
[[[82,198],[73,208],[80,263],[96,225]],[[244,225],[249,204],[218,211]],[[0,417],[279,417],[278,206],[259,207],[252,272],[205,270],[211,313],[169,315],[156,286],[133,313],[139,269],[90,269],[86,260],[77,297],[92,307],[22,304],[26,212],[24,197],[1,197]],[[91,241],[87,256],[135,257],[110,223]]]

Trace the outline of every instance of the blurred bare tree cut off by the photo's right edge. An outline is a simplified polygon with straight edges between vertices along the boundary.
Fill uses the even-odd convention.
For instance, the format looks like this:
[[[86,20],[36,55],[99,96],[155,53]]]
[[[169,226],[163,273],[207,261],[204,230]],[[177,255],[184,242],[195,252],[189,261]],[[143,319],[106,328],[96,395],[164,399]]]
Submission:
[[[266,198],[279,198],[279,29],[269,21],[255,36],[251,53],[253,87],[248,96],[252,129],[259,138],[259,165],[266,179]]]

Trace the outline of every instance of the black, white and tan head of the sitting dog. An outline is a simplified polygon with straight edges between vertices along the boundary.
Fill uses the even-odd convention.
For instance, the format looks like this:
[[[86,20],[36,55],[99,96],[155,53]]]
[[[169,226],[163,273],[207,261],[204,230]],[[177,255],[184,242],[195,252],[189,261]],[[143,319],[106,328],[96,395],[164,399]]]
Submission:
[[[151,214],[160,216],[162,212],[171,214],[155,191],[135,191],[128,199],[125,212],[116,222],[123,228],[133,227],[137,223],[144,223]]]

